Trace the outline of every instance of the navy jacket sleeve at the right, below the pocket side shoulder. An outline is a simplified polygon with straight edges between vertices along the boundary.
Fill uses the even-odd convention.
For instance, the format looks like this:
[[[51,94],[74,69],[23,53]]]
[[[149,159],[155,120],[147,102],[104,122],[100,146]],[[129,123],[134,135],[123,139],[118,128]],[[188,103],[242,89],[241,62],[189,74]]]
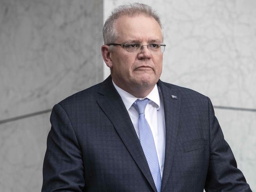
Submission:
[[[209,104],[210,163],[206,178],[206,192],[252,192],[242,172],[237,168],[234,155],[224,140],[213,106]]]

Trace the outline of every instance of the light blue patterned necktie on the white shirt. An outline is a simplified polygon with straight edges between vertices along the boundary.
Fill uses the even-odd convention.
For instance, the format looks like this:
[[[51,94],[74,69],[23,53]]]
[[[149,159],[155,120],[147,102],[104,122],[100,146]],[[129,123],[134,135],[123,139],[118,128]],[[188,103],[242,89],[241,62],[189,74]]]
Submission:
[[[149,102],[148,98],[143,100],[136,100],[132,105],[137,109],[139,113],[139,140],[141,147],[144,151],[145,157],[148,162],[148,166],[151,175],[154,179],[156,189],[158,192],[161,190],[161,174],[158,162],[158,156],[156,153],[156,146],[154,138],[150,129],[150,126],[145,118],[145,108]]]

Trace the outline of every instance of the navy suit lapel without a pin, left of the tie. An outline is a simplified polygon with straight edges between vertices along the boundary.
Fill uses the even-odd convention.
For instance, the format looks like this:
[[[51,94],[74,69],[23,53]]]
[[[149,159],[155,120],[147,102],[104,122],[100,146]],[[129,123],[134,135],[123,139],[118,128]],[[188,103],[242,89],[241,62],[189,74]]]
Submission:
[[[102,83],[102,89],[100,89],[98,93],[102,95],[101,98],[96,100],[98,105],[100,105],[102,111],[108,116],[132,158],[156,192],[156,186],[150,173],[143,149],[141,148],[139,138],[137,137],[124,103],[113,86],[110,76]]]

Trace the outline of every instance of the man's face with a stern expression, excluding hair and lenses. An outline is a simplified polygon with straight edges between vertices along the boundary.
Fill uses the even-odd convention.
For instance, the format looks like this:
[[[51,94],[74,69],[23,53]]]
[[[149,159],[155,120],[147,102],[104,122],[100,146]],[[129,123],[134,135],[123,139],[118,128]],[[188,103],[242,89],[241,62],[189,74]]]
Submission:
[[[117,38],[114,43],[117,44],[138,42],[145,45],[151,42],[162,42],[161,28],[152,17],[121,16],[116,20],[115,30]],[[152,53],[147,46],[143,46],[141,53],[130,53],[122,46],[115,46],[110,53],[110,58],[113,81],[128,92],[131,92],[130,89],[143,87],[152,90],[160,78],[163,54]]]

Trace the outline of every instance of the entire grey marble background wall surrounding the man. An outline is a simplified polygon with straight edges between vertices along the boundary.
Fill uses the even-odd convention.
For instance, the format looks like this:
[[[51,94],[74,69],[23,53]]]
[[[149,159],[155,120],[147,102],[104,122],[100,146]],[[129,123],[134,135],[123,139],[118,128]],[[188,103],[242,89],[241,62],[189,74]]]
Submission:
[[[0,191],[41,190],[50,110],[109,75],[101,30],[124,0],[0,0]],[[163,22],[161,79],[209,96],[256,190],[256,2],[144,0]]]

